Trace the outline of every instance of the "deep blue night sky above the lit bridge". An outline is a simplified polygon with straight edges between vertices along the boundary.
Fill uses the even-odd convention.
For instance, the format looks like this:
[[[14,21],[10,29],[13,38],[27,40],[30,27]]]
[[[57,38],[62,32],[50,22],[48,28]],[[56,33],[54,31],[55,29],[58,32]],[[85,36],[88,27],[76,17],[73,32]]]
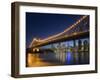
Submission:
[[[83,15],[26,13],[26,46],[33,38],[46,38],[62,32]]]

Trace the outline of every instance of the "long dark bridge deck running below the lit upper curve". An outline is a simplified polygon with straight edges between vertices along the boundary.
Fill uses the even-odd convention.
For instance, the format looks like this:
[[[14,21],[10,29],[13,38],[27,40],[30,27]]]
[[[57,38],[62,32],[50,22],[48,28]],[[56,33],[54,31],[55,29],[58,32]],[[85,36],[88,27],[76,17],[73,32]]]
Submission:
[[[79,32],[79,33],[74,33],[72,35],[65,35],[65,36],[57,37],[56,39],[41,42],[37,45],[34,45],[32,48],[45,46],[45,45],[48,45],[48,44],[51,44],[51,43],[57,43],[57,42],[75,40],[75,39],[83,39],[83,38],[87,38],[87,37],[89,37],[89,31]]]

